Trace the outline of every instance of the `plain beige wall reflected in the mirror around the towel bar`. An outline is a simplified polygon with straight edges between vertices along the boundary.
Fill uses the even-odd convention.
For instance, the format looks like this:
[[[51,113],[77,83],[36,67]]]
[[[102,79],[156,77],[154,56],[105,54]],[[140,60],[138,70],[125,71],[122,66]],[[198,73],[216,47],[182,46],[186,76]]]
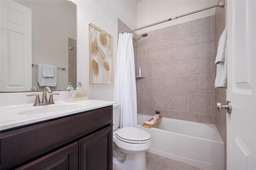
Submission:
[[[32,63],[65,67],[57,69],[55,89],[68,86],[68,38],[76,40],[76,5],[66,1],[18,0],[32,10]],[[37,67],[32,67],[32,86],[38,87]],[[42,89],[43,87],[39,87]]]

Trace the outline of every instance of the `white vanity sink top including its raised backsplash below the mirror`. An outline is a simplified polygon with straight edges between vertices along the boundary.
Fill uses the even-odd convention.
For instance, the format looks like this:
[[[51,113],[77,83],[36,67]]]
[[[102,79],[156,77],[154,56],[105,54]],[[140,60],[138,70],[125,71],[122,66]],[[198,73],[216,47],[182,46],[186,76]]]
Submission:
[[[38,93],[42,94],[41,92]],[[65,91],[58,93],[68,95]],[[90,99],[66,101],[65,98],[56,96],[54,99],[55,104],[53,105],[33,106],[34,100],[31,100],[31,98],[28,100],[24,95],[24,93],[0,93],[0,130],[56,119],[116,104],[113,101]]]

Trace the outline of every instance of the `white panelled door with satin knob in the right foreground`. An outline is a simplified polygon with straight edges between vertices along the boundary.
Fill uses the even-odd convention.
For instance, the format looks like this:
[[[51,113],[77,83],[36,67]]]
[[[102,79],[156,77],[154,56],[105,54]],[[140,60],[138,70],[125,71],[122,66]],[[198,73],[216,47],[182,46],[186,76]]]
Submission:
[[[227,169],[256,170],[256,1],[227,3]]]

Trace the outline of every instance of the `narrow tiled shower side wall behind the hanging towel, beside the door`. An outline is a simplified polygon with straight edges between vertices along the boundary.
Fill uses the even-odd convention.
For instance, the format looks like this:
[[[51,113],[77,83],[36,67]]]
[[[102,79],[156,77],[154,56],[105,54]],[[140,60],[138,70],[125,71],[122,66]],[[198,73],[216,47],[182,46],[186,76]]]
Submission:
[[[226,2],[225,2],[225,4],[226,4]],[[225,22],[226,7],[216,8],[214,18],[215,18],[214,30],[215,30],[215,47],[216,47],[215,48],[215,56],[216,56],[220,35],[222,34],[222,32],[226,26],[226,22]],[[215,71],[215,74],[216,74],[216,71]],[[215,101],[222,103],[222,105],[226,104],[226,89],[215,88]],[[220,133],[222,140],[225,143],[225,162],[226,162],[226,110],[225,109],[223,109],[221,112],[218,112],[217,109],[215,109],[215,125]]]

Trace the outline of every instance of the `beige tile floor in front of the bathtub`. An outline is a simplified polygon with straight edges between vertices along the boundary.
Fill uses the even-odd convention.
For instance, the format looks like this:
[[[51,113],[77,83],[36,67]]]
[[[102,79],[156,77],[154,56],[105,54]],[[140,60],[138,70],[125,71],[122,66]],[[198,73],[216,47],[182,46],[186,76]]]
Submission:
[[[189,164],[146,152],[147,170],[200,170]],[[121,170],[113,166],[113,170]]]

